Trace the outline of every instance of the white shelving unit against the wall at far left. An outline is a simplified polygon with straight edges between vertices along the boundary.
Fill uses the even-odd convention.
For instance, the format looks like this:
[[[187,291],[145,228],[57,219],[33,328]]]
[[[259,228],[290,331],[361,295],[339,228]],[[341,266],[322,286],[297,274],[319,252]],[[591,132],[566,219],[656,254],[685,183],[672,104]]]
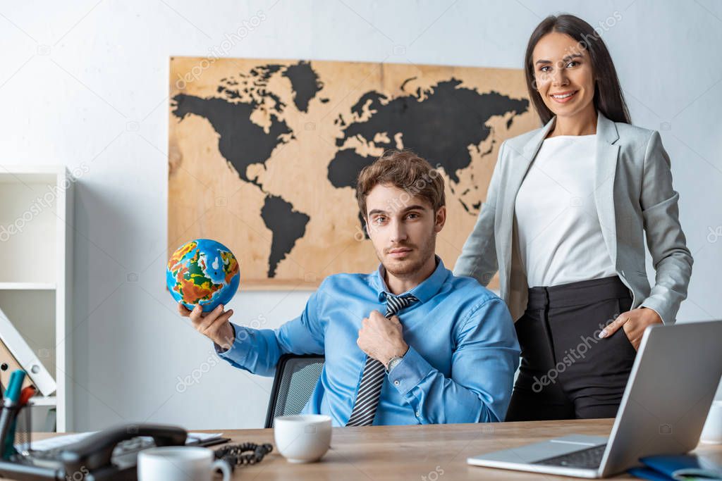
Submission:
[[[0,308],[55,377],[32,401],[56,407],[58,432],[72,429],[73,182],[64,166],[0,165]]]

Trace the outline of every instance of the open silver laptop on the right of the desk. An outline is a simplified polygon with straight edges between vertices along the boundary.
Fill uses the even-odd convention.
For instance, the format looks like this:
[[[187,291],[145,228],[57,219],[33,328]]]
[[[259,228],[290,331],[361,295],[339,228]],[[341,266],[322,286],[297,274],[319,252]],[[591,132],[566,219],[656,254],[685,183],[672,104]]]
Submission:
[[[722,321],[647,327],[609,438],[570,434],[470,457],[476,466],[598,478],[697,446],[722,376]]]

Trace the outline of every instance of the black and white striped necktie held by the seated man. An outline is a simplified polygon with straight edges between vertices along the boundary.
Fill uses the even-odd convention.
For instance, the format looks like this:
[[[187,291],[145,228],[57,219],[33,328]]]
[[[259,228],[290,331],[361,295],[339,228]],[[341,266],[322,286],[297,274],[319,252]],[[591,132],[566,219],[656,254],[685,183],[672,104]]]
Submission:
[[[412,294],[399,297],[387,293],[386,317],[391,318],[393,314],[418,300]],[[373,417],[376,414],[376,407],[378,407],[378,399],[381,394],[381,385],[385,376],[386,369],[384,369],[383,364],[374,358],[366,356],[366,366],[363,369],[359,391],[356,394],[356,402],[349,422],[346,423],[347,426],[368,426],[373,423]]]

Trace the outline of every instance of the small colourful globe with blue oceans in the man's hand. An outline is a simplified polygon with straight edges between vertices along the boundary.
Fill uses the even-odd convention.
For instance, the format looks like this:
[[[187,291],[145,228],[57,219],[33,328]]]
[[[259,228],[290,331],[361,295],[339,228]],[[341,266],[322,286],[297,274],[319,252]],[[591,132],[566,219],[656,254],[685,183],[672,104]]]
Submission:
[[[209,312],[227,304],[238,291],[240,267],[233,252],[220,242],[195,239],[178,247],[168,260],[165,282],[175,301]]]

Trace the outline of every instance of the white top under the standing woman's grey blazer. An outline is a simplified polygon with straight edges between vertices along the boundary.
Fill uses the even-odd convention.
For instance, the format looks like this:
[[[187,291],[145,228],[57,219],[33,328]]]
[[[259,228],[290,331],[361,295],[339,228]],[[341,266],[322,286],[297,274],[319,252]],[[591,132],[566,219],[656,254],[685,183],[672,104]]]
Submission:
[[[529,287],[617,275],[594,203],[595,151],[596,135],[547,138],[524,177],[514,212]]]

